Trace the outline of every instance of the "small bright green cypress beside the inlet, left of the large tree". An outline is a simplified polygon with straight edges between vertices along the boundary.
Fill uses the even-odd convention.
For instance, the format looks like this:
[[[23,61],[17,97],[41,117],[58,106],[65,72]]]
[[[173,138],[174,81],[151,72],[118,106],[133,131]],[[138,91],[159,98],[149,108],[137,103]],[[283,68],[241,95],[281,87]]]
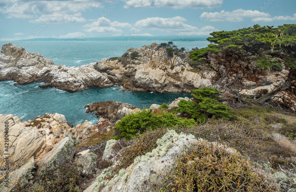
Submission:
[[[217,96],[219,93],[221,93],[221,91],[210,87],[194,90],[191,94],[192,98],[194,98],[194,102],[181,100],[178,103],[179,108],[177,110],[181,113],[190,114],[192,118],[202,123],[205,122],[210,115],[222,117],[226,120],[236,117],[231,108],[215,100],[219,98],[219,96]]]

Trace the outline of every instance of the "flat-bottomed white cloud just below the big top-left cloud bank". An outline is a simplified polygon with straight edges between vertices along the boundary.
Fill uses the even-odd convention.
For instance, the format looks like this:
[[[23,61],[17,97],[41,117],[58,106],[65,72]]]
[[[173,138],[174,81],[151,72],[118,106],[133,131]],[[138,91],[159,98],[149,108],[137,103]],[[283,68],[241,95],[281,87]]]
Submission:
[[[49,14],[41,15],[38,19],[30,20],[29,23],[68,23],[68,22],[86,22],[86,19],[81,17],[81,13],[70,14]]]

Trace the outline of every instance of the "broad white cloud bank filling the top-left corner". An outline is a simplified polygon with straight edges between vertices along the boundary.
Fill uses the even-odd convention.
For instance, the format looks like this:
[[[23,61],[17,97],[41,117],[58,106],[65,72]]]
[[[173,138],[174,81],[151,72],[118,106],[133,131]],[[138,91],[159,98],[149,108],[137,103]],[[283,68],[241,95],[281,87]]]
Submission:
[[[87,9],[102,7],[97,1],[69,0],[69,1],[7,1],[6,6],[0,8],[0,13],[7,18],[33,18],[38,14],[67,14],[86,12]]]

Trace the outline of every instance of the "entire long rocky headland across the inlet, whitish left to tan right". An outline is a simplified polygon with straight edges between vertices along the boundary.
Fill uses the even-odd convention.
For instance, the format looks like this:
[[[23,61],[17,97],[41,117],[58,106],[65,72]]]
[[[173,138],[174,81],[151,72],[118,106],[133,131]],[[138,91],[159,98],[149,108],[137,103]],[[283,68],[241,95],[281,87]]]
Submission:
[[[130,58],[135,51],[139,59]],[[39,87],[71,92],[115,84],[136,91],[191,92],[210,85],[211,73],[190,71],[189,64],[178,56],[169,57],[157,43],[131,48],[123,56],[79,67],[57,66],[39,53],[6,43],[0,55],[0,81],[15,81],[15,85],[44,82]]]

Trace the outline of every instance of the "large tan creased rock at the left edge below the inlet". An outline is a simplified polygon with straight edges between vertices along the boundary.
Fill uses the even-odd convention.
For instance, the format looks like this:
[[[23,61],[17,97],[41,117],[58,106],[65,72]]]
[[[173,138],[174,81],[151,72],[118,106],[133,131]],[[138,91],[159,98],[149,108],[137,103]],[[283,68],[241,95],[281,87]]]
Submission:
[[[54,120],[56,119],[56,120]],[[5,122],[9,124],[9,166],[15,170],[35,157],[40,160],[54,145],[62,139],[70,127],[64,115],[58,113],[46,113],[38,116],[35,120],[20,122],[18,117],[13,115],[0,115],[0,145],[5,143]],[[59,123],[59,122],[61,123]],[[66,122],[66,123],[62,123]],[[35,123],[35,124],[34,124]],[[0,148],[0,155],[4,155],[4,147]],[[4,167],[0,162],[0,168]]]

